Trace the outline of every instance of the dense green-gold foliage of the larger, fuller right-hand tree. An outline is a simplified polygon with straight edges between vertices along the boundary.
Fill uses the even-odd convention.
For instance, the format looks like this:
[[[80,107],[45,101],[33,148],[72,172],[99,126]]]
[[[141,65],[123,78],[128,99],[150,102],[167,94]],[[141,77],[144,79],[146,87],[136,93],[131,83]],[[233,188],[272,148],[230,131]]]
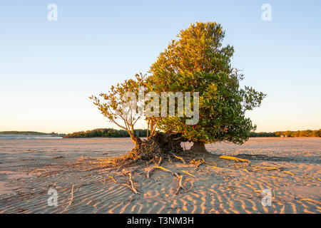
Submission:
[[[260,106],[265,94],[247,86],[240,88],[243,74],[232,68],[234,48],[223,46],[224,36],[222,26],[215,22],[192,24],[180,31],[178,40],[153,63],[152,76],[147,79],[149,90],[200,94],[197,125],[186,125],[186,117],[168,117],[161,120],[161,130],[204,143],[243,143],[255,130],[245,111]]]

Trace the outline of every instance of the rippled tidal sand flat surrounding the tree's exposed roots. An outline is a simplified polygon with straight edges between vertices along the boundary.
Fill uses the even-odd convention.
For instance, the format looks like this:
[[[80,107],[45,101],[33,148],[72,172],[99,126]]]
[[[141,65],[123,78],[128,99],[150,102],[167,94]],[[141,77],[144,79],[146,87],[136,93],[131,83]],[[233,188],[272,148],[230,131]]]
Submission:
[[[178,195],[170,173],[146,177],[154,164],[133,173],[135,194],[108,177],[126,184],[126,169],[116,173],[99,163],[131,150],[129,138],[0,140],[0,213],[321,212],[320,138],[250,138],[244,145],[206,147],[215,156],[205,160],[217,166],[164,163],[183,175]],[[49,189],[58,193],[57,207],[48,205]],[[269,196],[271,205],[263,206]]]

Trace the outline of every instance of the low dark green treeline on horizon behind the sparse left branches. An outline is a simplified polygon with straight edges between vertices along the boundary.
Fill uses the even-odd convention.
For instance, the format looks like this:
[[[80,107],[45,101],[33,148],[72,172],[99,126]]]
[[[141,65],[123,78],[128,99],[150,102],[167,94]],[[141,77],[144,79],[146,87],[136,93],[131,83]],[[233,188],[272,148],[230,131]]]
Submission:
[[[134,134],[138,137],[147,137],[147,130],[137,129]],[[79,131],[66,135],[64,138],[124,138],[129,137],[126,130],[115,130],[113,128],[98,128],[94,130]]]

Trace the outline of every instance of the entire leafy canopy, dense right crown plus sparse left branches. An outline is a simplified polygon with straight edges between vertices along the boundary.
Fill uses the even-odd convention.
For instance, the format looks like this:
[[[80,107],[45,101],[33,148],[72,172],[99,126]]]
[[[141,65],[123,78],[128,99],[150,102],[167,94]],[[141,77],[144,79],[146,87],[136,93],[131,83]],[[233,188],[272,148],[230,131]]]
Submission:
[[[195,145],[223,140],[243,143],[248,140],[256,126],[250,118],[245,118],[245,111],[260,106],[265,94],[252,87],[240,87],[243,74],[231,66],[234,48],[223,46],[225,31],[222,26],[215,22],[191,24],[180,31],[177,37],[158,56],[147,77],[136,74],[135,79],[112,86],[108,93],[101,93],[103,101],[91,96],[94,104],[108,120],[126,130],[133,142],[138,144],[141,140],[134,134],[134,125],[143,115],[136,106],[137,101],[141,101],[140,93],[191,93],[191,104],[185,99],[185,106],[191,105],[194,111],[197,107],[198,122],[190,124],[186,121],[190,118],[186,108],[183,115],[177,112],[170,116],[149,116],[145,113],[148,132],[151,132],[149,138],[158,128],[166,133],[180,134],[185,140],[195,142]],[[140,90],[141,86],[144,87],[143,91]],[[133,97],[128,97],[127,92],[133,92]],[[195,94],[199,95],[199,99],[195,100]],[[131,99],[135,102],[124,108]],[[156,96],[151,98],[158,103],[155,99]],[[141,102],[144,106],[147,100]],[[167,100],[165,103],[169,113],[170,105],[167,105]],[[159,102],[163,112],[162,105],[165,106],[163,101]],[[174,98],[174,105],[178,108],[178,99],[176,101]]]

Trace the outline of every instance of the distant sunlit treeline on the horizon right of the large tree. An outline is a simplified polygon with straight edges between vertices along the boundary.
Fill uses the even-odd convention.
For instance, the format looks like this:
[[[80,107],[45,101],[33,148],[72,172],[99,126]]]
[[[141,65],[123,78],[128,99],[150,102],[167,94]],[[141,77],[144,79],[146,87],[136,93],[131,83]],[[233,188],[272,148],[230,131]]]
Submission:
[[[321,137],[320,130],[286,130],[275,133],[250,133],[250,137]]]

